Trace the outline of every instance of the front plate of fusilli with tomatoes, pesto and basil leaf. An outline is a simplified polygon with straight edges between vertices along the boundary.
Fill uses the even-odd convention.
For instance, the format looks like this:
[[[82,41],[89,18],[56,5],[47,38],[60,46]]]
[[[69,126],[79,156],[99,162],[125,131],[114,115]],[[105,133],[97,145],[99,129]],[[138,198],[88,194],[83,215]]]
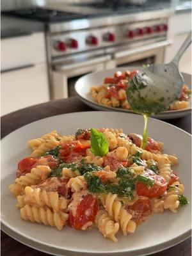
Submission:
[[[45,118],[3,138],[6,232],[57,255],[143,255],[186,239],[190,135],[149,118],[154,140],[143,151],[142,129],[142,116],[90,111]],[[104,136],[102,152],[90,136]],[[78,207],[88,207],[79,219]]]

